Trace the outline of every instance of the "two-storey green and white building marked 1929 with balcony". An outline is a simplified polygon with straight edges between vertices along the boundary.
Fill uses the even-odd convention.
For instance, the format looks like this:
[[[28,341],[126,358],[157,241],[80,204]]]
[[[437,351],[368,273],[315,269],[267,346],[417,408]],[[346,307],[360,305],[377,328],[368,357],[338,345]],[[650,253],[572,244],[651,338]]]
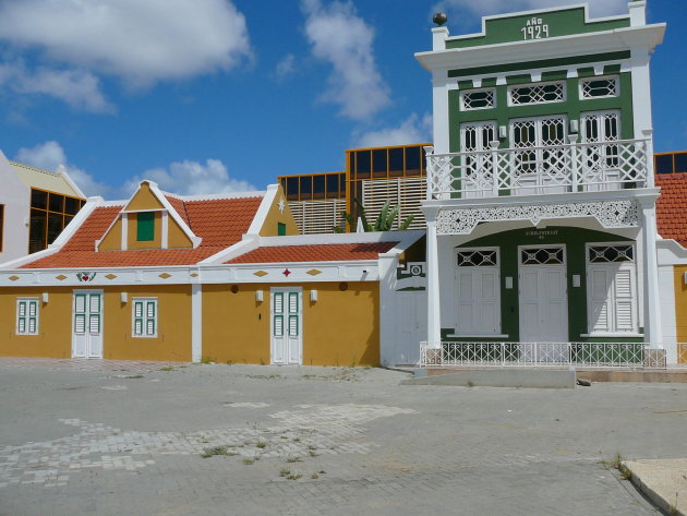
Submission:
[[[665,360],[649,73],[664,31],[644,1],[433,28],[415,55],[434,111],[424,363],[555,362],[600,343],[596,361]]]

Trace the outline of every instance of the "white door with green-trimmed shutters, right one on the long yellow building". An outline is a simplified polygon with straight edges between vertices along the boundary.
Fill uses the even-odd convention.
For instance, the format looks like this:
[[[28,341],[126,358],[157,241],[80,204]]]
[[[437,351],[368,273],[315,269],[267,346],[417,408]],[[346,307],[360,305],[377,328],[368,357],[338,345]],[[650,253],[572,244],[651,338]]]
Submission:
[[[272,289],[272,363],[303,362],[303,292],[300,288]]]

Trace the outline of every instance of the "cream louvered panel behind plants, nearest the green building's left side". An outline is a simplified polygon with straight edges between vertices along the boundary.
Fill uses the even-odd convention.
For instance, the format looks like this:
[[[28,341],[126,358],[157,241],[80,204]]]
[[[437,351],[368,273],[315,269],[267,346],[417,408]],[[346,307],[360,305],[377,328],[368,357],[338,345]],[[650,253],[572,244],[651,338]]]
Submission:
[[[367,221],[374,224],[382,212],[384,203],[389,200],[391,207],[399,206],[398,215],[394,220],[394,228],[397,228],[406,217],[414,215],[408,229],[423,229],[425,226],[424,216],[420,211],[420,203],[425,199],[425,178],[398,178],[377,179],[363,181],[363,206]]]

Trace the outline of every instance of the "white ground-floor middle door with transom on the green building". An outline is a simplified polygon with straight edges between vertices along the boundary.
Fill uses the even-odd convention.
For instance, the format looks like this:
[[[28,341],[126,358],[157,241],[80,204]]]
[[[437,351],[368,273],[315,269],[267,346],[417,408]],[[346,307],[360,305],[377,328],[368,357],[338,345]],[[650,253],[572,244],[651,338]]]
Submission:
[[[568,300],[563,247],[520,247],[520,341],[527,360],[561,361],[568,340]],[[531,343],[541,343],[533,345]]]

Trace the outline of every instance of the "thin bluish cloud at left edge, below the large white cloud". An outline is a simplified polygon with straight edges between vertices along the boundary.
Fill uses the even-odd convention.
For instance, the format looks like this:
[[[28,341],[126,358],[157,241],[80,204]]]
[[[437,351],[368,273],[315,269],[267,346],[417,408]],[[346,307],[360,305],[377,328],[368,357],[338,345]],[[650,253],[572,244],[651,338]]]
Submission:
[[[27,70],[23,62],[0,64],[0,86],[17,94],[47,95],[74,109],[113,112],[114,107],[100,92],[98,77],[84,70]]]

